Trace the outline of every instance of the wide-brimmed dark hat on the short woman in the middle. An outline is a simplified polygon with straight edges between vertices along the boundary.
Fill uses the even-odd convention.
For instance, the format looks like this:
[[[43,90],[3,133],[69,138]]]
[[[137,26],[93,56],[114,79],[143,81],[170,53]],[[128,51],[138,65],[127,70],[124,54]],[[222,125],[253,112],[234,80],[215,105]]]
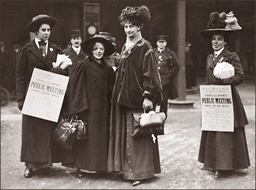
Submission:
[[[99,42],[104,45],[105,52],[104,56],[111,56],[115,52],[115,46],[106,38],[104,38],[102,35],[94,35],[92,38],[84,41],[81,44],[81,49],[86,54],[92,55],[92,48],[93,45],[95,45],[96,42]]]

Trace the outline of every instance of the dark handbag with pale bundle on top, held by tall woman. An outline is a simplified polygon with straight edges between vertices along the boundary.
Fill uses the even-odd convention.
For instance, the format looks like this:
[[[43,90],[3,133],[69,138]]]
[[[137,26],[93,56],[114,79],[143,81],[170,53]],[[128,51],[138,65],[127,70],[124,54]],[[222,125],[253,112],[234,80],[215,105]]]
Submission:
[[[164,119],[166,118],[165,114],[150,113],[149,115],[150,116],[147,116],[147,115],[145,116],[145,111],[144,113],[132,113],[132,137],[133,138],[151,136],[152,134],[154,134],[155,136],[164,135]],[[141,116],[143,117],[142,122],[141,122]]]

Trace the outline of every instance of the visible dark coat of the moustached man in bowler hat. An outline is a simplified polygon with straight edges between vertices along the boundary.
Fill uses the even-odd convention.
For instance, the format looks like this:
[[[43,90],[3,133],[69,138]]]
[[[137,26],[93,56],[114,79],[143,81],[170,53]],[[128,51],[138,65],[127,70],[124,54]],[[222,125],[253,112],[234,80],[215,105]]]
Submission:
[[[63,53],[68,55],[69,58],[72,60],[72,65],[68,66],[69,75],[72,74],[73,68],[76,65],[77,61],[82,61],[84,58],[86,58],[86,56],[88,56],[88,54],[86,54],[82,50],[80,50],[79,54],[77,54],[72,46],[67,49],[63,49]]]

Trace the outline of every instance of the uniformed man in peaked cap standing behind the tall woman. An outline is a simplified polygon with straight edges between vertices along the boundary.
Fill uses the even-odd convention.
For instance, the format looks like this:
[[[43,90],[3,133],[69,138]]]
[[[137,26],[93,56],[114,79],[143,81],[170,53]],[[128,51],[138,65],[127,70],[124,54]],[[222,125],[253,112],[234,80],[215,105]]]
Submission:
[[[179,72],[180,65],[175,52],[166,47],[168,36],[156,36],[157,47],[154,49],[157,59],[157,68],[161,77],[163,87],[163,102],[160,111],[164,112],[167,118],[168,99],[179,97],[177,87],[173,81]]]

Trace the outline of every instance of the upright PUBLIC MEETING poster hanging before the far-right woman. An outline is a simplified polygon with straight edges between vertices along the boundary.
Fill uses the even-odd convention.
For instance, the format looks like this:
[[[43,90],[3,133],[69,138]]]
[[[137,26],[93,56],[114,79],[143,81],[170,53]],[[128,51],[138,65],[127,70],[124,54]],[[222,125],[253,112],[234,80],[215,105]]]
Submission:
[[[230,85],[200,85],[202,131],[234,132]]]

